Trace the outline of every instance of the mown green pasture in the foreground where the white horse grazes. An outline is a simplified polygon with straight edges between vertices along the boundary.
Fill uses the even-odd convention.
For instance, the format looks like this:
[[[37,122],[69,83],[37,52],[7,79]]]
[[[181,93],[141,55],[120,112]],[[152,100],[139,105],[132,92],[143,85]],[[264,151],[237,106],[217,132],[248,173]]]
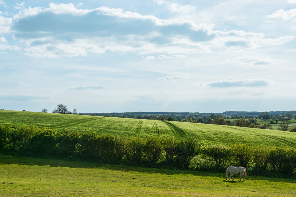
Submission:
[[[295,196],[296,180],[0,156],[0,196]],[[5,184],[2,184],[5,182]],[[12,183],[12,184],[9,184]],[[227,186],[229,185],[229,186]]]

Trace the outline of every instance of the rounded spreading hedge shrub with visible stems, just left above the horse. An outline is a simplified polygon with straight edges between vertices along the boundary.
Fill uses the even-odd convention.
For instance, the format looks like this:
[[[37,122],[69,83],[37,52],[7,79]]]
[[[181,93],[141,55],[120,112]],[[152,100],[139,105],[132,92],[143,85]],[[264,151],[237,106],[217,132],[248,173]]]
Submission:
[[[215,161],[216,167],[223,166],[229,160],[230,148],[223,145],[202,146],[200,150],[202,156],[208,161]]]

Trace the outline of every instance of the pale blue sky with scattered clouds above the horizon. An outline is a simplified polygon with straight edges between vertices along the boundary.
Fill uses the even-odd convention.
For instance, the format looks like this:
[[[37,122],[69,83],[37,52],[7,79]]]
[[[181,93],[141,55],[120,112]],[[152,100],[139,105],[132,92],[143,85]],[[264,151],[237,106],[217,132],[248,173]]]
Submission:
[[[296,0],[0,0],[0,109],[295,110]]]

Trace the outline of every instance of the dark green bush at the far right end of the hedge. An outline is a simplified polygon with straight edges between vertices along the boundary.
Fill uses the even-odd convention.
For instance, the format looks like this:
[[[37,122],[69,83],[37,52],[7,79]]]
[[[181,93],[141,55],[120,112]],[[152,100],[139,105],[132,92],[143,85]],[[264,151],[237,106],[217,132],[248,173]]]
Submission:
[[[274,148],[270,151],[270,164],[276,171],[292,173],[296,168],[296,149],[290,147]]]

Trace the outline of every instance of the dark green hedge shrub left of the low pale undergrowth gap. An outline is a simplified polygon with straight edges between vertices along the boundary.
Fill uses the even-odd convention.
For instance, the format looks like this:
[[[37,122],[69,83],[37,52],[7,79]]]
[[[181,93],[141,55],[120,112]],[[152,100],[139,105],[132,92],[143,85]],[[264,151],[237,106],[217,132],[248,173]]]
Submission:
[[[196,140],[179,140],[175,148],[175,164],[179,168],[188,169],[190,161],[199,153],[200,146]]]

